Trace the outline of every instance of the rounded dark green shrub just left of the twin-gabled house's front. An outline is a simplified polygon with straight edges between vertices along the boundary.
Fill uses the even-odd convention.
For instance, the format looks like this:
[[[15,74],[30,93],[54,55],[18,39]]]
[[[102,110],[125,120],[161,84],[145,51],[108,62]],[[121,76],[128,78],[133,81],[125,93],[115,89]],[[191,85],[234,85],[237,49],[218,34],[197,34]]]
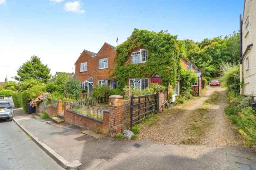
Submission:
[[[65,96],[67,98],[74,99],[74,98],[77,98],[79,93],[80,93],[80,81],[75,78],[69,79],[64,88]]]

